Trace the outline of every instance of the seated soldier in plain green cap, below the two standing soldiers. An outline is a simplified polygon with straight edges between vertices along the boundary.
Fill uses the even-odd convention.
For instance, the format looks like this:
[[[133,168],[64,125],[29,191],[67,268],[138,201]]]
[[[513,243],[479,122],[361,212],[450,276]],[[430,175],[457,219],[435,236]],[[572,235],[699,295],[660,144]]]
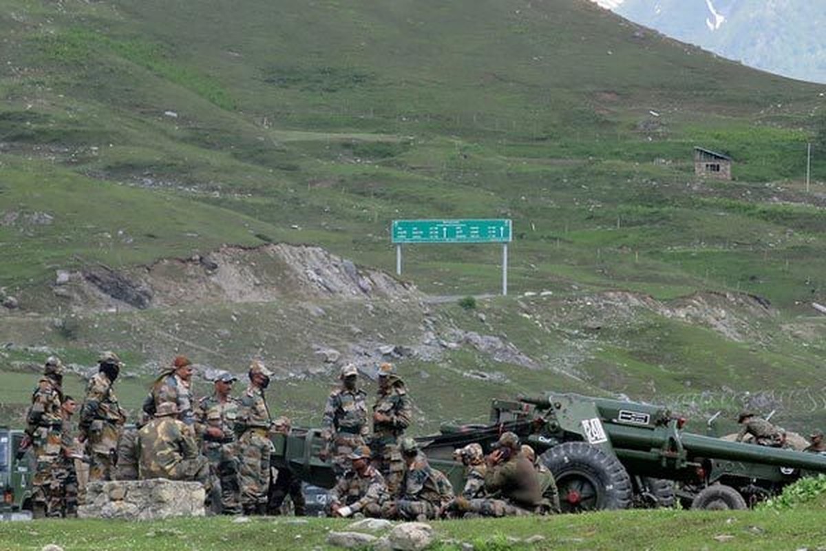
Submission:
[[[430,467],[414,439],[403,438],[399,446],[406,464],[402,493],[382,507],[382,515],[402,520],[434,519],[453,500],[453,487],[444,473]]]

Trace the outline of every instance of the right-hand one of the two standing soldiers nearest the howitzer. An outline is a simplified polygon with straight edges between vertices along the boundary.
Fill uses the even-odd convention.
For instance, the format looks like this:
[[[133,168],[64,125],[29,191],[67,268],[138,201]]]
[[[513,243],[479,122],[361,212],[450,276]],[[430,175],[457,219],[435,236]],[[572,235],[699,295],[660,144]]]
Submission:
[[[378,367],[378,395],[373,405],[373,464],[381,471],[393,496],[401,491],[405,473],[399,440],[411,424],[410,397],[405,383],[393,373],[391,363]]]

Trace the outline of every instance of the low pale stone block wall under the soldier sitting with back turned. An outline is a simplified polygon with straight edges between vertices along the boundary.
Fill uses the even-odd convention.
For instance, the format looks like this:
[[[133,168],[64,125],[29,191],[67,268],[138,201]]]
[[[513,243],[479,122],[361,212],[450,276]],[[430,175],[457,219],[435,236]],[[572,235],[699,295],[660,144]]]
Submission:
[[[200,482],[122,480],[90,482],[81,518],[157,520],[170,516],[203,516],[206,494]]]

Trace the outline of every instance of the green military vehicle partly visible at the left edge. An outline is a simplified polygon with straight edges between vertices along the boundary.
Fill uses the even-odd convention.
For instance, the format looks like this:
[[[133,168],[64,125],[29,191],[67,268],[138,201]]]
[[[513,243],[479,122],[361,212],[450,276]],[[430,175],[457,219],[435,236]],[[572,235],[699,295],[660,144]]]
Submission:
[[[22,430],[0,426],[0,520],[31,518],[31,454],[20,453]],[[19,457],[19,458],[18,458]]]

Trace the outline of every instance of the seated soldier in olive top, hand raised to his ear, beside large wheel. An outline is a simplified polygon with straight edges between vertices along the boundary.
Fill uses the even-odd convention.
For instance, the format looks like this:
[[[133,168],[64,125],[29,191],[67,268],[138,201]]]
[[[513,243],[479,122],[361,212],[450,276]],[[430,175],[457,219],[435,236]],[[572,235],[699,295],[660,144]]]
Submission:
[[[542,491],[534,465],[520,454],[519,437],[500,436],[487,457],[485,493],[488,497],[460,504],[460,511],[482,516],[530,515],[543,512]]]

